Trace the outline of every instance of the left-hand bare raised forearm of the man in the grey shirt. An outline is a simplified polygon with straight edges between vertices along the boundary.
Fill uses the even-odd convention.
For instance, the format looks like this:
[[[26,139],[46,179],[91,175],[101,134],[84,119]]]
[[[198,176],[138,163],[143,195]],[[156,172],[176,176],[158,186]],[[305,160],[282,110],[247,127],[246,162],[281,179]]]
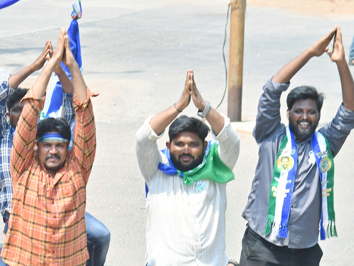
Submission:
[[[283,66],[272,78],[272,81],[289,83],[290,79],[313,57],[312,49],[309,48]]]

